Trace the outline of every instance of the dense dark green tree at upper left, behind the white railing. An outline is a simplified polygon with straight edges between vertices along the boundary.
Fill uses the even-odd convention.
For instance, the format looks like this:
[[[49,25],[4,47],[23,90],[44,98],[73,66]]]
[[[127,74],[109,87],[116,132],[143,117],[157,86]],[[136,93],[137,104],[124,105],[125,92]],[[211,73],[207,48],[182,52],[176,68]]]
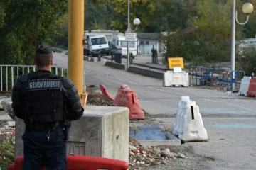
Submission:
[[[51,42],[68,0],[0,2],[0,63],[31,64],[41,42]]]

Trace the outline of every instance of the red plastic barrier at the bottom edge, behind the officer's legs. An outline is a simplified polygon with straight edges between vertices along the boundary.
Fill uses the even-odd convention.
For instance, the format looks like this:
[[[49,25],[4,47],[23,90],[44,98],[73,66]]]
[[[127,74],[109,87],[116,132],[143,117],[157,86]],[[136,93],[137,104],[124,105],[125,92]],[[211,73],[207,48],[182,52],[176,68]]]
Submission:
[[[9,165],[9,170],[21,170],[23,160],[23,156],[17,157],[14,164]],[[88,157],[84,155],[68,156],[67,164],[67,170],[127,170],[129,168],[129,164],[124,161],[103,157]],[[46,170],[46,168],[44,167],[43,170]]]

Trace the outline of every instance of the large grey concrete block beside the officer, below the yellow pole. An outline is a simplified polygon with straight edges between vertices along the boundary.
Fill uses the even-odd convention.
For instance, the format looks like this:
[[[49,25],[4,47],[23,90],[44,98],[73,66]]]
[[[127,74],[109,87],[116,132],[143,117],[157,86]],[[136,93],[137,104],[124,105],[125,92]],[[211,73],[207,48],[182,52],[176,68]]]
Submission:
[[[23,155],[23,120],[16,118],[15,157]],[[129,109],[86,106],[82,118],[72,122],[67,155],[107,157],[129,162]]]

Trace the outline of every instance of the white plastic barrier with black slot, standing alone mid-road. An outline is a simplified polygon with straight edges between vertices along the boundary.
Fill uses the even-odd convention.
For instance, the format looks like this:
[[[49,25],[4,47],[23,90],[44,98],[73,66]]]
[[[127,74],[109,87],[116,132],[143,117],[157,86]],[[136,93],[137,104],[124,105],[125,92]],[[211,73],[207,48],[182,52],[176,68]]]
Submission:
[[[188,96],[182,96],[178,102],[176,120],[172,128],[174,135],[177,135],[183,142],[208,140],[199,107]]]

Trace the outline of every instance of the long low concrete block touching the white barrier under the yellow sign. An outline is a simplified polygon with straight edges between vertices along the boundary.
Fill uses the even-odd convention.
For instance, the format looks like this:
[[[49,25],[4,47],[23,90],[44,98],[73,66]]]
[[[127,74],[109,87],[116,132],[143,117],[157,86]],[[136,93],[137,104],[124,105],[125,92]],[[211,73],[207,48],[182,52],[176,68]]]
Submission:
[[[128,72],[133,72],[136,74],[141,74],[144,75],[146,77],[153,77],[156,79],[163,79],[164,77],[164,73],[163,72],[156,72],[150,69],[144,69],[144,68],[139,68],[139,67],[134,67],[134,66],[130,66],[128,69]]]

